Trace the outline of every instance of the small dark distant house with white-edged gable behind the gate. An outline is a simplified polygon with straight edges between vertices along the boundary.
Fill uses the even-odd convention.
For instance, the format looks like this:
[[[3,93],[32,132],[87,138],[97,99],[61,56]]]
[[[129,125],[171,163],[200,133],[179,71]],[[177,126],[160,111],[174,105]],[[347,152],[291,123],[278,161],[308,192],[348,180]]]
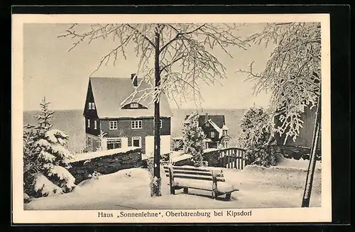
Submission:
[[[228,135],[229,128],[226,127],[224,115],[200,115],[199,126],[206,136],[204,139],[206,148],[228,147],[230,139]]]

